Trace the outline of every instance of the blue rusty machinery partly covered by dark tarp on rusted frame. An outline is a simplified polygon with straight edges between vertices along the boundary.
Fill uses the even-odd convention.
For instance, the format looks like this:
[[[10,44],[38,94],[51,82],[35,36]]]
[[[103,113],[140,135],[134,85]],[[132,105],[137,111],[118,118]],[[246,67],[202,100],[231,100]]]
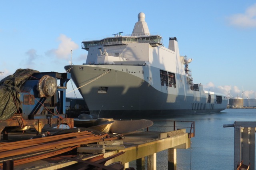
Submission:
[[[37,134],[41,134],[46,124],[50,127],[57,124],[57,128],[66,124],[73,128],[73,119],[66,116],[69,80],[70,73],[40,73],[31,69],[18,69],[1,80],[0,133],[3,132],[4,139],[13,127],[34,126]],[[6,95],[7,92],[10,94]]]

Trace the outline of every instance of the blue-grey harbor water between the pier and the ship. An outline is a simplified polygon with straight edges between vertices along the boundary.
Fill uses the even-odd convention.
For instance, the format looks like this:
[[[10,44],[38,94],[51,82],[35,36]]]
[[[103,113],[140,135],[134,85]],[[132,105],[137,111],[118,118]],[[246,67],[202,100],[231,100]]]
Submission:
[[[195,137],[191,138],[191,148],[177,149],[177,170],[233,170],[234,127],[223,128],[223,125],[233,124],[235,121],[256,121],[256,109],[226,109],[220,113],[189,115],[167,120],[195,122]],[[171,124],[158,124],[168,127],[169,123]],[[157,169],[167,170],[167,150],[158,152],[156,158]],[[130,162],[130,166],[136,168],[136,161]]]

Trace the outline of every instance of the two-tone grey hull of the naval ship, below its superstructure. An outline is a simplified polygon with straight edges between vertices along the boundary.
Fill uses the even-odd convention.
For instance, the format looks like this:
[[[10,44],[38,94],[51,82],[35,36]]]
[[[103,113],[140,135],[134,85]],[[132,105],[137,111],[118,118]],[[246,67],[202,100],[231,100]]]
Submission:
[[[176,75],[176,87],[160,84],[159,69],[147,65],[65,66],[94,118],[145,119],[218,113],[227,100],[194,91]],[[211,95],[211,101],[208,96]]]

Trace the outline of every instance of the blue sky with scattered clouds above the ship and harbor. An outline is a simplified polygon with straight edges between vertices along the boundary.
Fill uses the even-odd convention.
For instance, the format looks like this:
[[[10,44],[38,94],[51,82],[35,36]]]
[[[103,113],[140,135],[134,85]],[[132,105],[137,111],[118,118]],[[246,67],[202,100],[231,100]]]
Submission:
[[[82,41],[131,34],[144,12],[151,34],[161,35],[167,47],[169,37],[178,38],[180,55],[193,59],[194,83],[233,97],[244,89],[244,98],[256,98],[255,1],[0,2],[0,79],[19,68],[65,72],[71,50],[73,64],[85,63]]]

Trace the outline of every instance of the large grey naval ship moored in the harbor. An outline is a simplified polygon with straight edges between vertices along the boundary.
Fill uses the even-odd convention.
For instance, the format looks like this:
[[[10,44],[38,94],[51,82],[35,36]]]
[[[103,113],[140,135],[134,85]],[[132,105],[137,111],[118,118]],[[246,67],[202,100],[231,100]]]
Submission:
[[[86,63],[64,68],[94,118],[170,118],[227,107],[227,97],[193,83],[192,59],[180,56],[176,37],[166,48],[161,36],[150,35],[142,12],[131,35],[83,41],[82,49]]]

